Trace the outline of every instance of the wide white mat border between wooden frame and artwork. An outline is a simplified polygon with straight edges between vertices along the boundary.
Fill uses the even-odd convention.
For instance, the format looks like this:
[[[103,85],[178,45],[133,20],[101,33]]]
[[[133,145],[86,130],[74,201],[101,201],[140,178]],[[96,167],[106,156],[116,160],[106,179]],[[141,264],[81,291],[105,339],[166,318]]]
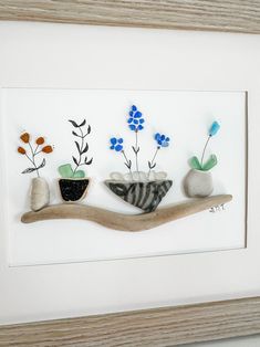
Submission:
[[[11,269],[1,232],[1,324],[259,295],[258,36],[10,22],[0,38],[2,87],[247,91],[249,120],[246,249]]]

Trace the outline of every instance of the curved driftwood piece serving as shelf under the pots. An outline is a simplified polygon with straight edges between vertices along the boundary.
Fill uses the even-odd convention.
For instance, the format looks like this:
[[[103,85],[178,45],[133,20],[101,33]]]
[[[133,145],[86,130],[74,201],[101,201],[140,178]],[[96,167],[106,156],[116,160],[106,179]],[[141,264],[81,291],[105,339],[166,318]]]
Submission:
[[[188,200],[157,209],[150,213],[139,214],[124,214],[85,204],[62,203],[49,206],[38,212],[27,212],[22,215],[21,221],[23,223],[33,223],[52,219],[83,219],[114,230],[142,231],[208,210],[211,207],[223,204],[231,200],[232,196],[229,194],[214,196]]]

